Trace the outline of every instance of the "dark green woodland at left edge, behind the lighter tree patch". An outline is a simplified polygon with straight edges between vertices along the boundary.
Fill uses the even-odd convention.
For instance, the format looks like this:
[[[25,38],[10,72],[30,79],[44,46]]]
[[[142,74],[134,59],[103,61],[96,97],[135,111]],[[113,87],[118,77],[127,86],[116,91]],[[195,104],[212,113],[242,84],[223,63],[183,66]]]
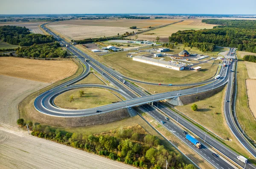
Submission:
[[[3,42],[19,46],[54,42],[53,36],[31,34],[29,29],[20,26],[0,26],[0,39]]]

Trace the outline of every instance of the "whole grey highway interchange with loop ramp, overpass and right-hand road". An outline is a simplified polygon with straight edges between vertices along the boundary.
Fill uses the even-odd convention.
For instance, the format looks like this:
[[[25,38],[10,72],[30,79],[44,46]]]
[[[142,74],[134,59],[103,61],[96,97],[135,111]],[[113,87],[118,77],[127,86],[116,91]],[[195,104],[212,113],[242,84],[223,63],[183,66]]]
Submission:
[[[48,33],[54,35],[56,39],[59,39],[59,41],[63,44],[67,44],[67,42],[60,37],[56,36],[56,34],[49,31],[49,29],[46,29],[44,25],[42,25],[42,28],[44,28]],[[170,117],[171,120],[164,120],[166,123],[163,124],[166,129],[168,129],[172,134],[176,135],[180,140],[182,140],[184,143],[186,143],[189,147],[191,147],[195,152],[198,153],[202,158],[207,160],[209,163],[212,164],[212,166],[215,166],[215,168],[218,169],[231,169],[235,168],[232,164],[227,162],[222,157],[215,158],[212,155],[213,150],[210,149],[208,146],[212,146],[215,149],[218,150],[223,156],[226,156],[227,158],[230,158],[230,160],[233,160],[235,163],[237,163],[239,166],[244,167],[244,164],[241,163],[236,159],[238,154],[234,152],[233,150],[227,148],[224,146],[220,141],[214,139],[213,137],[207,135],[202,129],[199,129],[183,117],[179,116],[176,112],[173,112],[171,109],[167,108],[163,103],[158,102],[158,100],[163,100],[166,98],[172,98],[177,97],[177,94],[182,95],[191,95],[199,92],[205,92],[208,90],[212,90],[215,88],[218,88],[220,86],[223,86],[227,83],[227,93],[225,100],[230,100],[231,98],[231,89],[232,89],[232,81],[234,77],[234,72],[231,72],[235,66],[235,64],[231,63],[228,67],[221,67],[220,74],[221,78],[218,80],[211,79],[207,80],[207,82],[200,82],[194,85],[198,85],[197,87],[190,88],[190,89],[183,89],[180,91],[174,91],[174,92],[166,92],[166,93],[160,93],[157,95],[148,95],[146,92],[144,92],[142,89],[137,88],[133,84],[126,82],[122,83],[123,80],[128,79],[127,77],[123,76],[122,74],[119,74],[118,72],[114,71],[111,68],[108,68],[107,66],[103,65],[102,63],[99,63],[94,58],[88,56],[87,54],[84,54],[83,52],[79,51],[79,49],[76,49],[75,46],[68,47],[73,54],[77,56],[77,59],[83,63],[86,67],[84,69],[84,72],[79,76],[76,77],[73,80],[70,80],[69,82],[63,83],[59,86],[56,86],[55,88],[42,93],[39,95],[34,103],[35,108],[44,114],[47,115],[53,115],[53,116],[59,116],[59,117],[80,117],[80,116],[88,116],[88,115],[96,115],[99,113],[106,113],[111,112],[118,109],[123,109],[127,107],[133,107],[133,106],[140,106],[141,109],[145,110],[149,115],[154,117],[155,120],[160,122],[161,120],[164,120],[164,118]],[[228,55],[231,54],[231,52],[234,49],[230,49],[230,52]],[[86,62],[85,58],[89,61]],[[227,61],[224,61],[227,64]],[[109,86],[94,86],[94,85],[73,85],[74,83],[78,82],[79,80],[83,79],[87,76],[89,73],[90,67],[95,69],[97,72],[102,74],[103,77],[105,77],[108,81],[110,81],[113,86],[115,86],[117,89],[109,87]],[[143,82],[142,82],[143,83]],[[147,83],[147,82],[145,82]],[[156,84],[156,83],[152,83]],[[192,85],[192,84],[186,84],[186,85]],[[201,85],[201,86],[199,86]],[[182,86],[182,85],[180,85]],[[108,88],[111,90],[114,90],[116,92],[119,92],[119,94],[123,95],[127,100],[114,103],[107,106],[101,106],[97,109],[84,109],[84,110],[70,110],[70,109],[61,109],[54,105],[53,100],[54,98],[59,95],[62,92],[65,92],[70,89],[77,89],[82,87],[102,87],[102,88]],[[150,104],[154,102],[154,105],[151,106]],[[251,154],[255,155],[255,149],[250,146],[250,143],[248,143],[246,140],[244,140],[244,137],[241,135],[240,131],[236,129],[236,125],[233,123],[232,115],[231,115],[231,105],[230,102],[224,103],[224,112],[227,119],[227,123],[230,126],[231,131],[235,132],[235,136],[238,137],[239,141],[242,143],[242,145],[249,151]],[[100,112],[96,112],[96,110]],[[173,123],[173,121],[177,121],[177,123]],[[180,126],[183,126],[187,129],[190,133],[193,133],[194,135],[198,136],[200,138],[200,142],[203,143],[202,149],[197,149],[195,146],[192,146],[191,143],[187,142],[185,140],[185,135],[182,134],[182,128]],[[239,136],[240,135],[240,136]],[[205,143],[204,144],[204,139]],[[246,168],[248,169],[256,169],[256,166],[253,164],[247,164]]]

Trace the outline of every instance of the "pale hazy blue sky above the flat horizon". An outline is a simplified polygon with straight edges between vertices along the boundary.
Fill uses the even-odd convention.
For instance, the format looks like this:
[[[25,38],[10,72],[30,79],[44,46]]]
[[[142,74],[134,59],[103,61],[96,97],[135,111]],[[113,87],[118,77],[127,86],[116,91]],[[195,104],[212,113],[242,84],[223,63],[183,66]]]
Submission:
[[[256,0],[0,0],[0,14],[256,14]]]

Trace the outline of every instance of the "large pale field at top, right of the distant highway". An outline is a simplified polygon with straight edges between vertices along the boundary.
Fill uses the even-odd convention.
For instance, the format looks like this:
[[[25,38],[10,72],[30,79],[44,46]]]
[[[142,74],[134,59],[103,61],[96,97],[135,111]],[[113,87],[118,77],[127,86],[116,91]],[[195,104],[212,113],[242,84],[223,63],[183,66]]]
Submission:
[[[109,37],[124,34],[125,32],[137,32],[145,30],[149,26],[161,26],[169,23],[177,22],[178,20],[67,20],[50,23],[49,28],[64,34],[70,39],[81,40],[84,38]],[[137,29],[130,29],[131,26],[137,26]]]

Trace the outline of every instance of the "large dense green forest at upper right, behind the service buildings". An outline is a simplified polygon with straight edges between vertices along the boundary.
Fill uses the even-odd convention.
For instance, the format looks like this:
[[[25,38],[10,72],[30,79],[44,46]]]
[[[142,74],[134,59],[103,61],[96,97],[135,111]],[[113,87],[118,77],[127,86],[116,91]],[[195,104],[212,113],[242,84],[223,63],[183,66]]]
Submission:
[[[215,46],[236,47],[239,51],[256,53],[256,20],[202,20],[204,23],[221,24],[213,29],[185,30],[173,33],[169,42],[174,43],[205,43],[209,51],[209,44]],[[208,43],[208,44],[206,44]],[[193,46],[193,45],[192,45]]]

